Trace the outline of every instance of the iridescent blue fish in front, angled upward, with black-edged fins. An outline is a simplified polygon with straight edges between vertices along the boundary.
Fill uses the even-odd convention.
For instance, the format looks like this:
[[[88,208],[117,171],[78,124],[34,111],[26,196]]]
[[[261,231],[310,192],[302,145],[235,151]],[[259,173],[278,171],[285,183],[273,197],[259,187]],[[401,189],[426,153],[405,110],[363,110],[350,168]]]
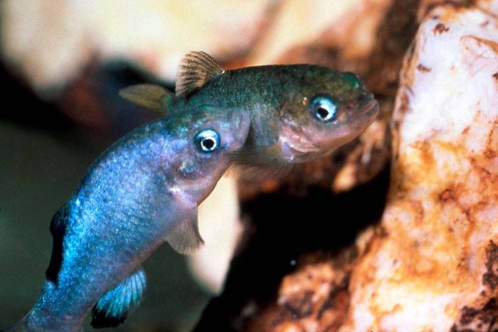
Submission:
[[[247,136],[241,110],[202,108],[146,124],[90,166],[52,219],[53,250],[32,311],[14,330],[115,326],[140,303],[140,263],[163,242],[189,252],[203,241],[197,205]]]

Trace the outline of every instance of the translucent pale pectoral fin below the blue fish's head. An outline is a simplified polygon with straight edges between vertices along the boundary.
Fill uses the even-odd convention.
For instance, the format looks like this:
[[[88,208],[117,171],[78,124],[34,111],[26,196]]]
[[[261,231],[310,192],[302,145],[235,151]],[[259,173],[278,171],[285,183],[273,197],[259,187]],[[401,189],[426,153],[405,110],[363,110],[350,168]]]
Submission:
[[[178,222],[165,239],[180,254],[191,254],[204,245],[197,222],[197,205],[182,211]]]

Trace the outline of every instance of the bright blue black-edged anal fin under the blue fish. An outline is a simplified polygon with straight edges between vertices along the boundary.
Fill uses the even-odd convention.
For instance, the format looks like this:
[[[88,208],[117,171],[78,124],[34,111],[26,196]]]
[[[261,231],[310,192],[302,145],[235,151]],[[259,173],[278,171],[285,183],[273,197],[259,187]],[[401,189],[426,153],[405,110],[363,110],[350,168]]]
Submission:
[[[139,267],[127,279],[102,296],[91,311],[91,326],[115,327],[142,301],[145,271]]]

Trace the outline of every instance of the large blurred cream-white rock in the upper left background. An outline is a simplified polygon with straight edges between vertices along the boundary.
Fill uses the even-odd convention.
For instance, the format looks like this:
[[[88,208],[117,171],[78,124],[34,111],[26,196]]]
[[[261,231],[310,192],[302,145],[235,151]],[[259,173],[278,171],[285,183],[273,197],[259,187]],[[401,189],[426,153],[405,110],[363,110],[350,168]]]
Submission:
[[[2,57],[45,98],[76,79],[92,58],[128,58],[173,81],[186,52],[203,50],[221,59],[244,52],[273,6],[271,0],[0,5]]]

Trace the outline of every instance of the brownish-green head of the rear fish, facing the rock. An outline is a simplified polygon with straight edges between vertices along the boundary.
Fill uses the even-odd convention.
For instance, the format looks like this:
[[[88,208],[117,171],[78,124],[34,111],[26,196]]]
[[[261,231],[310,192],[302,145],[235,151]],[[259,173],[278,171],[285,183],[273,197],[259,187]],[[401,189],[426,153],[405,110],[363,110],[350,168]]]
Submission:
[[[353,73],[307,66],[284,96],[281,141],[297,161],[308,161],[357,137],[378,112],[374,95]]]

